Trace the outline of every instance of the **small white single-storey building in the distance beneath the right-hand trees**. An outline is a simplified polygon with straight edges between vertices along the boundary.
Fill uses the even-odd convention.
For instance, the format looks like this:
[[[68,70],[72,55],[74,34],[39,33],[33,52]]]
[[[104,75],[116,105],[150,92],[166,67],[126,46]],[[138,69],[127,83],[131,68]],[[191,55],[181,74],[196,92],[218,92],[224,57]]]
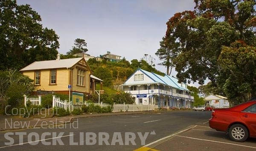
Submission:
[[[204,97],[204,101],[205,106],[213,106],[215,108],[227,108],[230,106],[226,97],[215,94]]]

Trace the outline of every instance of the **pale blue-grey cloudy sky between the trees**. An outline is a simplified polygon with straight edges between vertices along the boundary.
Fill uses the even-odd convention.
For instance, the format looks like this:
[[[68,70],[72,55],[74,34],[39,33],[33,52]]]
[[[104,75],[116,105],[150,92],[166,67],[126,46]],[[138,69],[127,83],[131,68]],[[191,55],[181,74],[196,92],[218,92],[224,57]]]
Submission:
[[[58,52],[66,54],[76,38],[87,42],[87,53],[110,51],[126,60],[140,61],[144,54],[156,59],[156,69],[166,67],[155,55],[165,35],[166,22],[177,12],[193,10],[193,0],[17,0],[41,15],[41,24],[59,36]],[[173,70],[174,71],[174,70]],[[173,72],[172,76],[176,76]],[[190,84],[198,87],[197,83]]]

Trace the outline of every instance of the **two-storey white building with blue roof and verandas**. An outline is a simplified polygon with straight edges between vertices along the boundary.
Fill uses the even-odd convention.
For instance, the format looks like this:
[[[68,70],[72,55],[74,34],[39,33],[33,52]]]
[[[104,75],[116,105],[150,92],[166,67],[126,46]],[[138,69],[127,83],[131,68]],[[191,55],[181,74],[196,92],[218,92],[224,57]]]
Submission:
[[[194,94],[186,84],[178,83],[177,78],[137,69],[122,84],[122,90],[136,98],[136,104],[156,105],[157,107],[190,108]]]

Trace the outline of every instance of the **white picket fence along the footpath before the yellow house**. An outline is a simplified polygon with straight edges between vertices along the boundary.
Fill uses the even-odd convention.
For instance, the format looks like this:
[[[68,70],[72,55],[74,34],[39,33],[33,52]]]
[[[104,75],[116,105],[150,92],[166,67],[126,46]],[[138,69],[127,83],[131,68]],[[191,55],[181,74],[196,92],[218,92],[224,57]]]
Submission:
[[[28,98],[24,95],[24,103],[26,106],[26,102],[30,101],[32,105],[41,105],[41,96],[35,98]],[[59,107],[64,108],[65,110],[73,111],[74,109],[81,110],[83,105],[99,105],[100,107],[108,107],[111,106],[110,104],[106,104],[103,102],[100,103],[91,103],[91,102],[84,102],[80,105],[72,105],[72,102],[68,102],[68,100],[61,100],[56,96],[52,96],[52,107]],[[155,109],[155,105],[136,105],[136,104],[116,104],[112,105],[112,112],[135,112],[135,111],[151,111]]]

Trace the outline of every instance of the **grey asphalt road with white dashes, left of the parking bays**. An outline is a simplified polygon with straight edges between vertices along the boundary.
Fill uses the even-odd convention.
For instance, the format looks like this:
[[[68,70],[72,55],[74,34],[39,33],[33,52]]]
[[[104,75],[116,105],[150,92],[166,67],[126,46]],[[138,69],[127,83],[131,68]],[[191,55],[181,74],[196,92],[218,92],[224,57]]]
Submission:
[[[2,132],[0,150],[131,151],[210,117],[210,111],[178,111],[75,119],[71,125]]]

